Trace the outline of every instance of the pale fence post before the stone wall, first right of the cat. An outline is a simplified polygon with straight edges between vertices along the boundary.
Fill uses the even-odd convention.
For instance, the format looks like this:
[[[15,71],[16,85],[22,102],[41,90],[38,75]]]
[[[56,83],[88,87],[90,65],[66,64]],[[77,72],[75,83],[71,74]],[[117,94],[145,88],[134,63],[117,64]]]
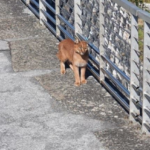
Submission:
[[[104,26],[104,0],[99,0],[99,50],[100,50],[100,81],[103,81],[105,78],[104,73],[102,72],[102,68],[105,67],[105,62],[102,58],[105,55],[104,49],[104,33],[105,33],[105,26]]]

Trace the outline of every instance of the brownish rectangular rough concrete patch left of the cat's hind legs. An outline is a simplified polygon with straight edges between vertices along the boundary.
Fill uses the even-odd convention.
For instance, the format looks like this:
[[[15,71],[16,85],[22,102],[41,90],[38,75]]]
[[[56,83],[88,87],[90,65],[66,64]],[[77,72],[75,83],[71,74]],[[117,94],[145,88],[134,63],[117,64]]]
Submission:
[[[34,38],[10,42],[15,71],[55,69],[57,45],[53,38]]]

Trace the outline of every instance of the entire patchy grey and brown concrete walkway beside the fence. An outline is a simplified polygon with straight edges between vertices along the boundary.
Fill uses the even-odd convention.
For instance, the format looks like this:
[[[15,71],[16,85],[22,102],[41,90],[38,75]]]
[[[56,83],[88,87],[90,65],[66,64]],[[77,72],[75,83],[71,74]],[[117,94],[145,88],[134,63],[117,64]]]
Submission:
[[[92,76],[60,75],[56,43],[20,0],[0,0],[0,150],[148,150]]]

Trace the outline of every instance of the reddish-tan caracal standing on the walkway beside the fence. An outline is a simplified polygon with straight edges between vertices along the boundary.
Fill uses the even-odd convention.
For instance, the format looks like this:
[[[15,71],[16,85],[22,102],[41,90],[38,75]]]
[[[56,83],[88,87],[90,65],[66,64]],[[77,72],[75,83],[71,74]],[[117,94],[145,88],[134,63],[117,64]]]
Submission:
[[[85,72],[89,57],[88,44],[78,39],[75,42],[71,39],[65,39],[59,43],[58,49],[57,57],[60,60],[61,74],[65,74],[65,62],[68,62],[70,68],[74,71],[75,85],[87,83]],[[81,75],[79,74],[79,68],[81,68]]]

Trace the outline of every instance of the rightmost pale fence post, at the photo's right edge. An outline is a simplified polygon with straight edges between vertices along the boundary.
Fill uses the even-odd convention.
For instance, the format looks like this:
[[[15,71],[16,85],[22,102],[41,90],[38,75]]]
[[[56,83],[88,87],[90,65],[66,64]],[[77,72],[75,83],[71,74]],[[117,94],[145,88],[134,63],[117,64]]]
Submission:
[[[144,22],[142,132],[150,135],[150,24]]]

